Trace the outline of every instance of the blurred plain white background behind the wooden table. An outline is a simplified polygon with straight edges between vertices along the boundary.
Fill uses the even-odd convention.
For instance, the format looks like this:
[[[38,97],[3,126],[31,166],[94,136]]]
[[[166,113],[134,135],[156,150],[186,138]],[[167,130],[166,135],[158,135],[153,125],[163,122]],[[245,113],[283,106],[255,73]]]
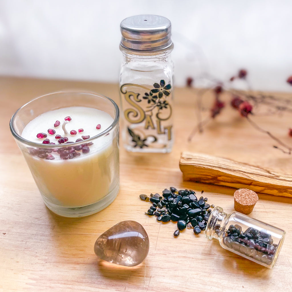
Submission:
[[[254,89],[290,91],[291,0],[0,0],[0,74],[118,82],[121,20],[171,20],[176,85],[246,68]]]

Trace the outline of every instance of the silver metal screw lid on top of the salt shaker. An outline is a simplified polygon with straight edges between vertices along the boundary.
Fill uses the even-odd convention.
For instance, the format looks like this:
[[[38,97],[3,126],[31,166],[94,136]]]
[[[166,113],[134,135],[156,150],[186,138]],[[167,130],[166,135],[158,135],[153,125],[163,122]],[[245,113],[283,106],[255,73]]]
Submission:
[[[170,48],[171,23],[158,15],[136,15],[121,22],[121,46],[132,51],[159,51]]]

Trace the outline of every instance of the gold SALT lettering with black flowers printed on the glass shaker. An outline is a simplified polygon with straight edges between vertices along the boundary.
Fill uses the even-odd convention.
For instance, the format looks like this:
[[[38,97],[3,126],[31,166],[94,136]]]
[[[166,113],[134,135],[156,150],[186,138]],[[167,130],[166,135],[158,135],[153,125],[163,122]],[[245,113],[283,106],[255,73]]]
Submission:
[[[135,93],[133,91],[127,91],[124,87],[138,87],[142,89],[147,89],[142,96],[139,98],[140,93]],[[154,83],[153,88],[149,88],[138,85],[138,84],[123,84],[121,86],[121,93],[124,94],[125,100],[132,106],[132,108],[127,108],[124,111],[126,120],[130,124],[139,124],[145,121],[143,126],[144,130],[156,130],[157,135],[167,135],[167,139],[171,140],[171,129],[172,125],[165,125],[162,127],[161,122],[167,121],[172,115],[172,108],[167,99],[171,98],[171,84],[167,84],[165,80],[161,79],[159,84]],[[145,100],[146,105],[143,108],[143,100]],[[142,102],[142,103],[140,103]],[[140,103],[140,104],[138,104]],[[154,120],[156,118],[156,120]],[[128,125],[128,133],[132,138],[132,142],[135,143],[133,147],[149,147],[151,143],[158,140],[157,136],[147,135],[143,133],[140,129],[142,135],[138,135],[134,132],[134,127]],[[167,134],[166,134],[167,130]],[[141,136],[143,138],[141,138]],[[153,139],[148,139],[152,137]]]

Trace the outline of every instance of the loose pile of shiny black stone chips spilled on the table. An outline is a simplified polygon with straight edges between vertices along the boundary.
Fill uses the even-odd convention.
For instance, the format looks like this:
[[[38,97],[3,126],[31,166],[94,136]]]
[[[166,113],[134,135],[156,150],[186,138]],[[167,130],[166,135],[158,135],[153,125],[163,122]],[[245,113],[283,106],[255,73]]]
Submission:
[[[203,194],[204,191],[201,193]],[[177,222],[178,230],[173,233],[174,237],[180,234],[180,230],[186,227],[194,228],[194,233],[199,234],[206,229],[211,208],[206,202],[208,198],[196,197],[196,192],[192,190],[177,190],[174,187],[165,189],[161,197],[159,194],[151,194],[150,198],[145,194],[140,194],[142,201],[150,201],[152,206],[146,215],[155,215],[158,222]]]

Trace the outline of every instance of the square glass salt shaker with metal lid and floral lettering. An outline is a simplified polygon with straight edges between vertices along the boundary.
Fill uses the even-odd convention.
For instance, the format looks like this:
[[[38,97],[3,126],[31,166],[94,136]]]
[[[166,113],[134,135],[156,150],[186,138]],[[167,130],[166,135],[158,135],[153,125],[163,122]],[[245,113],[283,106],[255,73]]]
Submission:
[[[131,152],[171,152],[173,63],[171,22],[137,15],[121,22],[122,138]]]

